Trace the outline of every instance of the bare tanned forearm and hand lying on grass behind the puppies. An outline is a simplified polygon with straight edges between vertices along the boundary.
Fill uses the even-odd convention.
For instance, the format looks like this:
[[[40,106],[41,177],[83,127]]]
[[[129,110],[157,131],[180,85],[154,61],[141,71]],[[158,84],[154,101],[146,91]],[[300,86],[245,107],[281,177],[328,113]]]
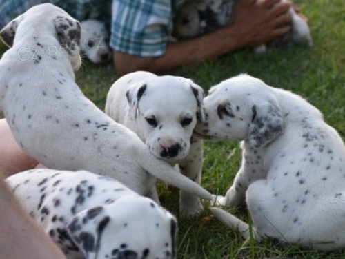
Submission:
[[[161,73],[195,61],[219,57],[244,47],[264,44],[289,32],[290,3],[279,0],[241,0],[228,26],[201,37],[170,42],[159,57],[139,57],[114,50],[115,68],[119,75],[135,70]]]

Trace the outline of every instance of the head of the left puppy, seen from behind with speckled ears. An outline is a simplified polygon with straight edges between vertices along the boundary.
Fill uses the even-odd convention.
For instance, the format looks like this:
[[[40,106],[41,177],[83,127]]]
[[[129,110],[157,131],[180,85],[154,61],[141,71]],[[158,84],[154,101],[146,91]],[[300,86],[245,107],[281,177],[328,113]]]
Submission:
[[[47,15],[48,14],[48,15]],[[22,47],[26,47],[33,41],[43,48],[48,55],[52,52],[63,52],[68,55],[73,70],[81,66],[79,21],[73,19],[67,12],[50,3],[33,6],[23,15],[13,19],[0,31],[0,36],[6,45],[12,47],[17,41],[26,38]],[[28,41],[30,36],[30,42]],[[46,45],[44,38],[52,35],[58,41],[56,46]],[[51,44],[51,42],[49,43]],[[35,48],[37,47],[35,46]]]

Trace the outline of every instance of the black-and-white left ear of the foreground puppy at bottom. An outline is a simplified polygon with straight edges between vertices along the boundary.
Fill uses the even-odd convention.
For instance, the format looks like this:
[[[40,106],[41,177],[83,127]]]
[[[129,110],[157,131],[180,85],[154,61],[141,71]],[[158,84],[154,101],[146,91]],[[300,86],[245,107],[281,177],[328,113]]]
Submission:
[[[104,207],[99,206],[81,211],[68,222],[68,234],[86,258],[96,258],[101,234],[109,221]]]

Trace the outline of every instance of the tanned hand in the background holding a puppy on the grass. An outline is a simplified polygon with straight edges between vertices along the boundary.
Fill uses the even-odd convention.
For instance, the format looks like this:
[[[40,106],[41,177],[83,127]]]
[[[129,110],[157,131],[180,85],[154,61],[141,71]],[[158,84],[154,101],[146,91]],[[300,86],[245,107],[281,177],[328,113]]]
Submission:
[[[258,46],[286,35],[291,29],[291,3],[280,0],[239,0],[230,26],[242,37],[244,46]]]

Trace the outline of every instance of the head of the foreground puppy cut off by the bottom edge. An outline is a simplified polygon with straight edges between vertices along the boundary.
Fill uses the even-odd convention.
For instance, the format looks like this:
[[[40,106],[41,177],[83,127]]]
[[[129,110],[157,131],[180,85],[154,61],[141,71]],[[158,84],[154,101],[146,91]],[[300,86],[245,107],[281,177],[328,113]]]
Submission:
[[[137,195],[78,213],[68,233],[86,258],[176,257],[175,217]]]

